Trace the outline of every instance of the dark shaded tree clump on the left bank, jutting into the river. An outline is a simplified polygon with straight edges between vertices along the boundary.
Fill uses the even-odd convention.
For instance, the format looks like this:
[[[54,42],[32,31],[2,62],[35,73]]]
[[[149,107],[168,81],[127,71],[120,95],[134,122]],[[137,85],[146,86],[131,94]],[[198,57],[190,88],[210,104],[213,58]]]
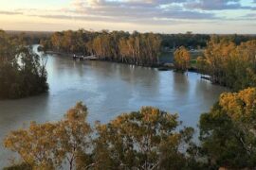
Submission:
[[[46,60],[33,53],[22,36],[0,31],[0,40],[0,98],[45,93]]]

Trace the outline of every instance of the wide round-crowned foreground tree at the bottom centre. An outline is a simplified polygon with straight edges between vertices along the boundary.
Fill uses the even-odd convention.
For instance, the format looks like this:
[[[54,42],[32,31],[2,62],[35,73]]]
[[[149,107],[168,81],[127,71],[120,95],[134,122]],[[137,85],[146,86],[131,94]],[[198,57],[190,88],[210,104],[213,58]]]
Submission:
[[[124,113],[106,125],[97,124],[96,169],[182,169],[188,167],[186,146],[192,128],[175,131],[176,114],[151,107]],[[180,148],[184,146],[184,152]],[[175,161],[171,161],[175,160]]]

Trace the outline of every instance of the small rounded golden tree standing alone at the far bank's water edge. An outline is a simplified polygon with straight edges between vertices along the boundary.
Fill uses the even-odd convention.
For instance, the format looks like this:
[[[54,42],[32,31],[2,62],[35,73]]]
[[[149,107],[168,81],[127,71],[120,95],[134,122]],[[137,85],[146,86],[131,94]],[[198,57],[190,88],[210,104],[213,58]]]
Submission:
[[[186,72],[190,67],[191,54],[181,46],[174,52],[174,67],[176,71]]]

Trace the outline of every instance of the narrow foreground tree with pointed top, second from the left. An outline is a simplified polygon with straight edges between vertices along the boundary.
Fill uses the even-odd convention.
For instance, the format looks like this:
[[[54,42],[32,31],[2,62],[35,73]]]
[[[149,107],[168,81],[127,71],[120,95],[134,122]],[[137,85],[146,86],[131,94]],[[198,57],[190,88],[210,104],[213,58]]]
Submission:
[[[86,156],[87,149],[91,146],[89,134],[92,132],[89,124],[86,123],[87,108],[82,102],[68,110],[64,120],[59,122],[57,133],[60,150],[64,154],[65,160],[69,164],[70,170],[73,169],[75,162],[80,157]]]

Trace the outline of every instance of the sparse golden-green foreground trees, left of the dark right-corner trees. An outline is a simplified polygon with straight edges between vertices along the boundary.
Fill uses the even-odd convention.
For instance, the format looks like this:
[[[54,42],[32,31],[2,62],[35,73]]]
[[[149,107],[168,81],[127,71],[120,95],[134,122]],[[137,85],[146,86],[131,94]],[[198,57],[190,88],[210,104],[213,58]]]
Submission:
[[[124,113],[108,124],[96,123],[94,137],[82,103],[64,120],[11,131],[5,146],[18,153],[22,167],[33,169],[188,169],[197,167],[190,153],[191,127],[180,131],[176,114],[151,107]],[[12,166],[12,167],[18,167]]]

